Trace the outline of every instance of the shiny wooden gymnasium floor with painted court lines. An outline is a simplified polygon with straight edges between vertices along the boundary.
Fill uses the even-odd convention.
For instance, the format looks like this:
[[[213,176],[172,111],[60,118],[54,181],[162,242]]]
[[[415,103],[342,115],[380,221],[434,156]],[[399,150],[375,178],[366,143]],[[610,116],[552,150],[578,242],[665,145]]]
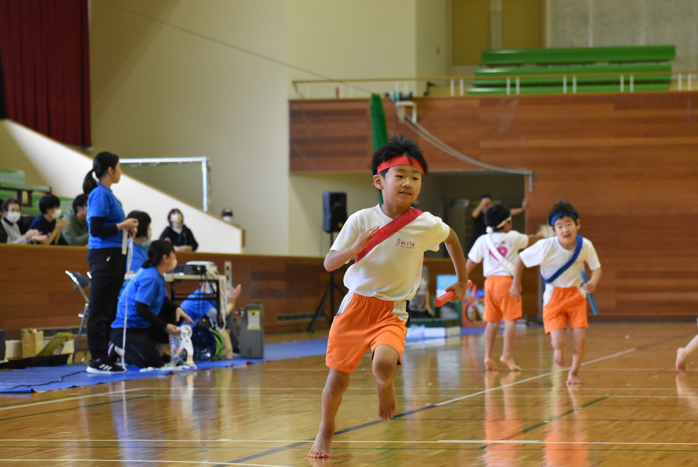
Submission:
[[[306,457],[323,357],[0,396],[0,465],[696,465],[698,361],[674,371],[676,347],[696,331],[592,324],[572,390],[539,328],[517,334],[521,373],[483,371],[481,335],[414,343],[391,422],[377,422],[367,357],[327,461]]]

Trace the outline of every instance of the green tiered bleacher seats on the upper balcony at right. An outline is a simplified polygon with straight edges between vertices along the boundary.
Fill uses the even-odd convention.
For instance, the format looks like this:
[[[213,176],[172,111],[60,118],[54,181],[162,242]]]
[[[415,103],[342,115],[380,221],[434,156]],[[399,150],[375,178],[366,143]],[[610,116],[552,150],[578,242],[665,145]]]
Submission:
[[[671,64],[657,62],[674,58],[674,45],[486,50],[467,94],[664,91]]]

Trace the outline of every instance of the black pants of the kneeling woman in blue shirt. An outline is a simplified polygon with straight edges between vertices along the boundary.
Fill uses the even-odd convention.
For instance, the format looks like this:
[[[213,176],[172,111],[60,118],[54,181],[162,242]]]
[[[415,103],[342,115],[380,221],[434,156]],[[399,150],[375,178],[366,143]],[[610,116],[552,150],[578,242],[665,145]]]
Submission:
[[[161,311],[159,317],[168,324],[175,324],[175,313]],[[111,341],[117,347],[124,345],[124,328],[114,328],[111,330]],[[124,359],[129,365],[136,365],[138,368],[152,366],[157,368],[162,366],[162,359],[158,344],[169,344],[170,336],[165,331],[147,328],[126,328],[126,347],[124,348]]]

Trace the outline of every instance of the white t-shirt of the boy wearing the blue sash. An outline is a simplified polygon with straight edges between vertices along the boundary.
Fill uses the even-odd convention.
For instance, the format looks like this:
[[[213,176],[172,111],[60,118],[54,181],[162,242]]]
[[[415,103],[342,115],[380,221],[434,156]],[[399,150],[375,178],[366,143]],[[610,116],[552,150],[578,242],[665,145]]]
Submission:
[[[562,266],[565,266],[567,261],[572,259],[574,248],[566,250],[560,245],[558,237],[544,238],[523,250],[523,252],[519,253],[519,256],[527,268],[540,265],[541,275],[544,278],[549,278],[558,272]],[[550,297],[553,295],[553,287],[576,287],[582,296],[586,297],[586,292],[581,288],[583,282],[580,274],[583,271],[585,262],[592,271],[601,267],[594,245],[588,238],[583,238],[579,256],[574,261],[574,264],[569,266],[567,271],[560,274],[560,277],[545,285],[545,292],[543,293],[544,305],[548,304]]]

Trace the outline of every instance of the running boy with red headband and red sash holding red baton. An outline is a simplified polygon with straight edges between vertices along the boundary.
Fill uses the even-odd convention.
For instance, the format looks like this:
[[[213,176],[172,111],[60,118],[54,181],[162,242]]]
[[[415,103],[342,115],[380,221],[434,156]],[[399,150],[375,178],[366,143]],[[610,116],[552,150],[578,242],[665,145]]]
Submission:
[[[349,293],[330,328],[326,354],[330,371],[322,391],[322,419],[308,457],[330,457],[342,394],[349,387],[349,375],[369,349],[378,417],[389,420],[398,412],[393,380],[405,347],[405,308],[419,287],[424,252],[446,244],[458,278],[446,288],[455,292],[453,300],[462,300],[470,285],[458,236],[438,217],[411,208],[427,173],[417,145],[394,135],[373,155],[371,173],[383,203],[349,216],[324,261],[327,271],[335,271],[356,257],[344,274]]]

